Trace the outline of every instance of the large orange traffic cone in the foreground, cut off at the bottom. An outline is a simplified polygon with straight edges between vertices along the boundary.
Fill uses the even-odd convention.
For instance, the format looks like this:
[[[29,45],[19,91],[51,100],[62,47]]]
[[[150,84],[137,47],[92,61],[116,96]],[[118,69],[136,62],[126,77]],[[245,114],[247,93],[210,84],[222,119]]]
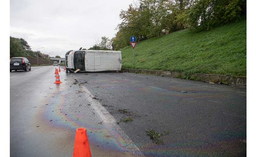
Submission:
[[[85,128],[77,128],[75,131],[73,157],[91,157],[91,151]]]

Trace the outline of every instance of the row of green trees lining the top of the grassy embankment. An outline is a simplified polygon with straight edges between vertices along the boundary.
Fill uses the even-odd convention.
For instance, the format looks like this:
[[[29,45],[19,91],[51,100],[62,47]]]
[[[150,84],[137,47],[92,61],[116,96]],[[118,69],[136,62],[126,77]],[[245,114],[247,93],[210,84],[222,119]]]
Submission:
[[[112,38],[113,50],[129,44],[186,28],[212,29],[241,20],[246,14],[245,0],[138,0],[121,10],[123,20]]]

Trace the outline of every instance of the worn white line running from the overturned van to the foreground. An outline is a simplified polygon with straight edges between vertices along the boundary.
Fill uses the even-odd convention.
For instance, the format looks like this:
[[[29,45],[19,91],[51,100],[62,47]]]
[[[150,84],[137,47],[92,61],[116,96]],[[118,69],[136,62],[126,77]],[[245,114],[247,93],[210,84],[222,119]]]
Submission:
[[[77,78],[74,75],[70,75],[77,81]],[[136,155],[143,156],[140,149],[133,143],[132,140],[129,139],[129,137],[123,132],[123,130],[116,124],[115,118],[105,109],[105,107],[103,107],[100,104],[100,102],[98,102],[96,99],[93,99],[93,95],[84,85],[79,85],[79,87],[85,94],[89,103],[91,104],[90,106],[100,115],[103,122],[108,123],[115,130],[117,130],[117,132],[120,133],[120,135],[123,137],[123,140],[130,146],[130,148],[133,148],[134,153]]]

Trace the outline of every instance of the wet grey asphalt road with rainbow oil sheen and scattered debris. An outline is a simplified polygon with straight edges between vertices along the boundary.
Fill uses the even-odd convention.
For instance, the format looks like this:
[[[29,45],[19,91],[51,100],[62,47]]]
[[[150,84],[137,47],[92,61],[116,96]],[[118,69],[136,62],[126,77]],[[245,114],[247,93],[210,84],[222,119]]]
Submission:
[[[10,155],[246,156],[246,88],[133,73],[10,73]],[[46,105],[47,104],[47,105]],[[130,117],[133,121],[119,122]],[[117,124],[119,122],[119,124]],[[146,130],[168,133],[156,144]]]

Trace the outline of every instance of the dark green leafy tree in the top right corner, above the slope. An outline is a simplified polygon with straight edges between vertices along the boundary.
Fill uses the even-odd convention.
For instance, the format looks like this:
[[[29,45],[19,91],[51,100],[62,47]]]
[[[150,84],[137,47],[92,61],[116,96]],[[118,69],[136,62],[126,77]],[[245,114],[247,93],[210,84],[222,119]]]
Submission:
[[[211,29],[217,25],[241,20],[246,13],[245,0],[197,0],[187,17],[190,27]]]

